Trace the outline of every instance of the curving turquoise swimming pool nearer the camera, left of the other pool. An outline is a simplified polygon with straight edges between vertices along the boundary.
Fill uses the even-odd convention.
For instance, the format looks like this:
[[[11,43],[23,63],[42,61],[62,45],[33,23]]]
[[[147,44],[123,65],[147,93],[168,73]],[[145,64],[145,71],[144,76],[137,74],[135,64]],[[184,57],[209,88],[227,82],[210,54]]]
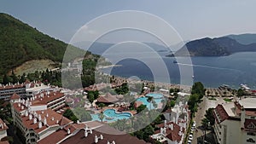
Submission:
[[[103,119],[103,121],[107,121],[107,122],[114,122],[117,121],[118,119],[124,119],[124,118],[130,118],[131,117],[131,113],[130,112],[116,112],[114,109],[107,109],[103,112],[105,118]],[[90,114],[91,118],[93,121],[97,120],[97,121],[101,121],[101,119],[99,118],[99,114]]]

